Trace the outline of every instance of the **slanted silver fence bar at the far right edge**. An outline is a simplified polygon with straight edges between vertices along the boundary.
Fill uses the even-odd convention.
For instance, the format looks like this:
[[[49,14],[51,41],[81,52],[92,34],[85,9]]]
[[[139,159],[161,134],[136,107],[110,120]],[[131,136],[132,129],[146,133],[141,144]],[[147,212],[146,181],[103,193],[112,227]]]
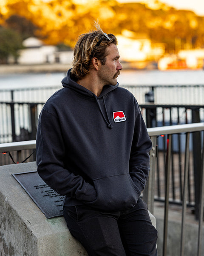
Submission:
[[[199,226],[198,226],[198,256],[201,256],[201,239],[203,229],[203,212],[204,212],[204,136],[203,136],[203,152],[202,152],[202,164],[201,164],[201,193],[200,193],[200,205],[199,205]]]

